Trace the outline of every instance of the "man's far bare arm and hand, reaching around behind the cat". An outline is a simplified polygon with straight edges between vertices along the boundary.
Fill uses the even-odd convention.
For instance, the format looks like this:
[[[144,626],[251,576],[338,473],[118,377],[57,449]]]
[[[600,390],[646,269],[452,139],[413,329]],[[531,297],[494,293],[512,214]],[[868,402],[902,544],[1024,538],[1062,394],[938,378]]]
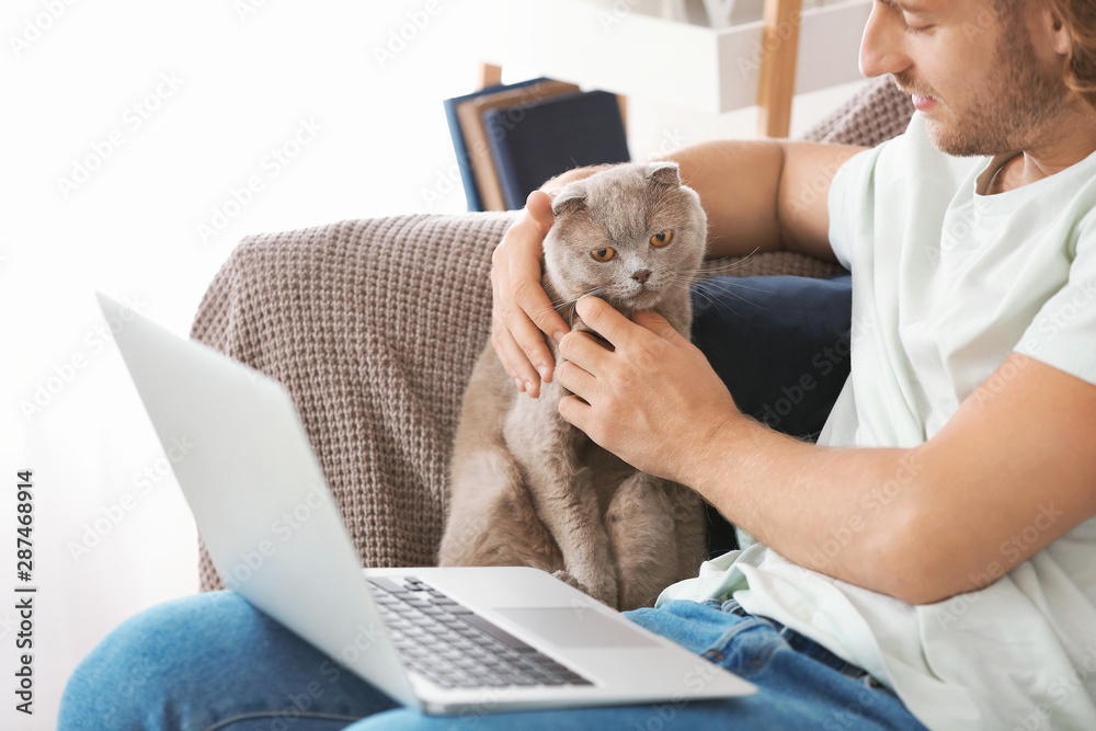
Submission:
[[[833,260],[826,201],[837,168],[861,148],[783,140],[718,141],[684,148],[667,160],[700,195],[708,215],[710,256],[799,251]],[[544,238],[552,224],[550,195],[597,168],[580,168],[534,192],[522,217],[495,249],[491,341],[517,388],[537,396],[555,363],[544,336],[569,331],[540,287]]]

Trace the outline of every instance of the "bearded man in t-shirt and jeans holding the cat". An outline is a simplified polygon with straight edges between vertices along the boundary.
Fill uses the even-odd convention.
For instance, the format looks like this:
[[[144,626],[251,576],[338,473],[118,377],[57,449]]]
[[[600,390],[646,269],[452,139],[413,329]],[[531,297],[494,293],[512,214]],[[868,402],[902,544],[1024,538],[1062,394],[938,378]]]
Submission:
[[[530,396],[557,378],[575,395],[564,419],[761,541],[631,615],[760,693],[458,727],[1096,728],[1093,14],[1080,0],[877,0],[861,68],[913,94],[906,135],[870,151],[675,156],[715,254],[786,249],[852,270],[852,375],[822,446],[743,416],[657,316],[590,297],[579,312],[614,350],[568,333],[538,256],[551,191],[589,171],[530,196],[495,253],[495,345]],[[826,196],[800,194],[820,183]],[[187,597],[89,655],[60,727],[454,726],[347,674],[288,708],[323,661],[232,594]]]

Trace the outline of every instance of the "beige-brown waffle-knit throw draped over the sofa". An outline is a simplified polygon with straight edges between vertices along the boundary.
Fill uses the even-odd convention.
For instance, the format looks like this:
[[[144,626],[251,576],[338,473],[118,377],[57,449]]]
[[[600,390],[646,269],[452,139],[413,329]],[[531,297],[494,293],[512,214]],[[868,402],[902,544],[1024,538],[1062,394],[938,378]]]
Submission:
[[[860,96],[811,136],[875,144],[905,128],[909,108],[889,84]],[[865,128],[876,138],[855,136]],[[199,306],[193,338],[293,396],[364,566],[434,562],[460,396],[488,336],[491,251],[514,216],[393,216],[250,237]],[[733,273],[833,271],[774,253]],[[224,585],[204,547],[201,582]]]

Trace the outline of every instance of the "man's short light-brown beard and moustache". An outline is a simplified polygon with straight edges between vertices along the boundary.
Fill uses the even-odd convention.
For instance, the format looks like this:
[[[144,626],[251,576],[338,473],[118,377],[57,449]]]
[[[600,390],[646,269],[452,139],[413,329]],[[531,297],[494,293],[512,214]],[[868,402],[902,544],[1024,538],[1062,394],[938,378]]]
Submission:
[[[1062,70],[1036,56],[1020,13],[1005,19],[1005,31],[994,52],[997,69],[964,108],[940,104],[939,119],[927,118],[929,140],[957,157],[1003,155],[1046,144],[1051,123],[1069,104]],[[905,72],[894,75],[903,90],[938,99],[932,89]]]

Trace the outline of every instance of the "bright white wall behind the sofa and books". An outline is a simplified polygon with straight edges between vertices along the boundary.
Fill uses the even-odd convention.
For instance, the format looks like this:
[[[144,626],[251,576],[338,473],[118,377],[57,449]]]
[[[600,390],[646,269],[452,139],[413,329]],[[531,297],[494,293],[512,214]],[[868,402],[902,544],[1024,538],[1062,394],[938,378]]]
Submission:
[[[20,469],[34,470],[38,593],[36,713],[15,713],[5,695],[0,727],[53,728],[64,681],[95,642],[196,586],[193,524],[92,293],[130,298],[185,334],[206,284],[249,232],[463,210],[441,100],[472,89],[475,47],[460,30],[470,19],[458,0],[433,16],[425,7],[4,3],[3,677],[18,654]],[[416,19],[422,27],[408,31]],[[378,55],[401,28],[410,39]],[[797,129],[849,93],[800,100]],[[754,125],[752,111],[696,115],[641,99],[629,111],[636,158],[749,137]],[[242,192],[249,181],[255,190]]]

